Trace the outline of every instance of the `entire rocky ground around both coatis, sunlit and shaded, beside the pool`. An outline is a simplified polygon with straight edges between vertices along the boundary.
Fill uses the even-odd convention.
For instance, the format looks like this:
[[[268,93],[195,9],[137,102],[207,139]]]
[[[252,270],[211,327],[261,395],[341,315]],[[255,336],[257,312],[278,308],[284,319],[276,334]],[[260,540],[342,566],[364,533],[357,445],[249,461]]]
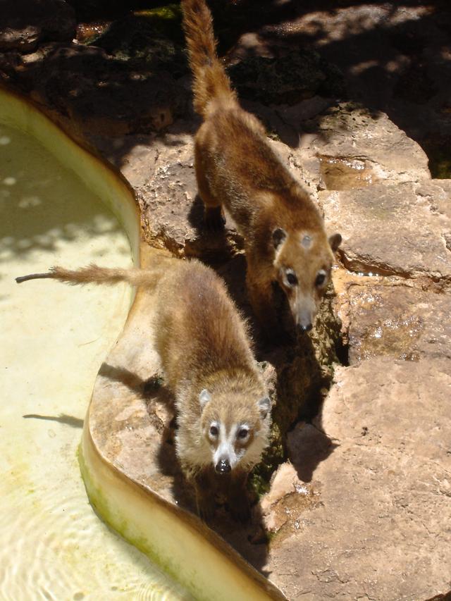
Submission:
[[[1,45],[4,26],[1,78],[120,169],[144,239],[213,264],[249,317],[276,426],[254,475],[262,496],[252,523],[220,506],[211,526],[290,600],[447,593],[451,180],[431,179],[430,168],[451,173],[449,15],[440,3],[277,3],[247,20],[249,31],[230,18],[238,8],[251,14],[252,3],[213,4],[222,45],[237,41],[228,63],[244,106],[343,237],[336,294],[331,287],[316,328],[296,345],[261,343],[230,218],[224,235],[203,229],[199,120],[175,8],[164,25],[155,13],[85,24],[84,33],[79,23],[87,44],[33,34]],[[300,79],[273,77],[280,65],[290,75],[299,57]],[[99,445],[131,478],[193,510],[175,461],[171,399],[152,380],[158,359],[142,324],[109,361],[92,415]]]

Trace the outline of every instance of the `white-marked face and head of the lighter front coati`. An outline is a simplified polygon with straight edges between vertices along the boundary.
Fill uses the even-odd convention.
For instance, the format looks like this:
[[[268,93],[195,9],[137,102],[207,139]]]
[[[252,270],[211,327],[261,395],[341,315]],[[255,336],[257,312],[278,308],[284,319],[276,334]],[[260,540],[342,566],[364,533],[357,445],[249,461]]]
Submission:
[[[199,402],[202,434],[209,446],[214,471],[223,476],[241,468],[261,447],[261,436],[266,438],[270,399],[261,397],[252,402],[248,391],[231,390],[223,395],[204,389]]]

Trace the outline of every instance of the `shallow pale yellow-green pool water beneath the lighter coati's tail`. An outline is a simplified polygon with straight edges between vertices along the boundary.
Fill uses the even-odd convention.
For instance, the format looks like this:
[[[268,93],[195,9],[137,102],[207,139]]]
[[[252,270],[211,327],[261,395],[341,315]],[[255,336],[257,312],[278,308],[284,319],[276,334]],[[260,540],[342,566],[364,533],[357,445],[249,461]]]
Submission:
[[[0,599],[187,596],[89,505],[77,449],[94,380],[130,308],[126,285],[18,275],[132,264],[113,213],[32,137],[0,124]]]

